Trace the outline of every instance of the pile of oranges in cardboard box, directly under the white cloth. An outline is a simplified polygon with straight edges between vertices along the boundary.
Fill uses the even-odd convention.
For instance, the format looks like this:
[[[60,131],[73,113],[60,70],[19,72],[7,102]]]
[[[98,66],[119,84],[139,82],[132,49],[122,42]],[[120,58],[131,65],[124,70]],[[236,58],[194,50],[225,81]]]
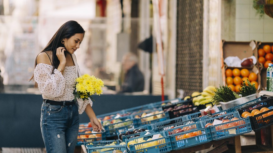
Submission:
[[[255,88],[258,89],[258,76],[254,72],[250,72],[248,69],[226,69],[225,76],[227,86],[234,92],[239,92],[243,81],[248,85],[246,80],[249,80],[250,84],[255,84]]]

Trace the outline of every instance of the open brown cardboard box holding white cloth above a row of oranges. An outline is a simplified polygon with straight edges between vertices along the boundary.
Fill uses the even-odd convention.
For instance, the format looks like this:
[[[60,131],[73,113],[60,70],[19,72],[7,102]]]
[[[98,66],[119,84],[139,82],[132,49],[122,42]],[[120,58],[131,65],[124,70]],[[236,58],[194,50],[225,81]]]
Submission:
[[[222,77],[223,77],[223,84],[226,85],[226,76],[225,76],[225,70],[226,69],[248,69],[251,72],[254,72],[257,74],[257,82],[259,84],[259,87],[257,90],[260,89],[260,71],[258,64],[258,51],[257,51],[257,42],[256,41],[247,41],[247,42],[239,42],[239,41],[225,41],[222,40],[221,43],[221,69],[222,69]],[[252,65],[251,67],[228,67],[224,60],[225,58],[229,56],[237,56],[240,58],[240,60],[244,58],[248,58],[250,56],[255,56],[257,63],[255,65]],[[233,77],[234,78],[234,77]],[[242,77],[241,77],[242,78]],[[235,85],[235,84],[234,84]]]

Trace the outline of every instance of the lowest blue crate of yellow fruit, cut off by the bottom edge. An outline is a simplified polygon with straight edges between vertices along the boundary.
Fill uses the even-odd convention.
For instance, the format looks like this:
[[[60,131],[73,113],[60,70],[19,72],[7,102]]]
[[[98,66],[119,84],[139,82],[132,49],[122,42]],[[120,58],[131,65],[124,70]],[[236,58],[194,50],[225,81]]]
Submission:
[[[103,151],[102,149],[109,149],[109,150],[108,151]],[[98,151],[100,153],[107,153],[107,152],[109,153],[109,152],[113,152],[114,150],[125,151],[126,150],[126,146],[125,145],[115,145],[115,146],[93,146],[93,147],[87,147],[88,153],[92,153],[93,151]]]

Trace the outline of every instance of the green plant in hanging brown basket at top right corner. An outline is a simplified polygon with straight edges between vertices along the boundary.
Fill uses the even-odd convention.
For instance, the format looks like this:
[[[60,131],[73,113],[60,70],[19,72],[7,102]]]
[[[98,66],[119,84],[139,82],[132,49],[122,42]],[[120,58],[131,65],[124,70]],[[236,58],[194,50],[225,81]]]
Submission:
[[[253,0],[253,8],[260,17],[266,14],[273,18],[273,0]]]

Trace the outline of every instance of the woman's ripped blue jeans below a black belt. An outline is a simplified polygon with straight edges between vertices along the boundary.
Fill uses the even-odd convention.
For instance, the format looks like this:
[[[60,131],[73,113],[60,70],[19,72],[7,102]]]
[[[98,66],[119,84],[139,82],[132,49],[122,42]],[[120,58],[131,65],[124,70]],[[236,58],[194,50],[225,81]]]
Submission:
[[[76,103],[64,104],[42,104],[40,125],[47,153],[73,153],[75,150],[79,130],[78,106]]]

